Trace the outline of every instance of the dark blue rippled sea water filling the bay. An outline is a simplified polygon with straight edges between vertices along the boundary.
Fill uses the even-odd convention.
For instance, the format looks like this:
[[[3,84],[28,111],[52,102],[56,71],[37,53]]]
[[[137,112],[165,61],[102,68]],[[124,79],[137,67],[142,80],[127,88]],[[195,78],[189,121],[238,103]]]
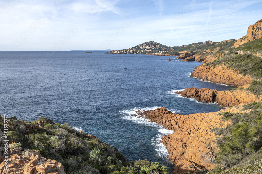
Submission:
[[[132,116],[138,109],[165,106],[192,114],[222,107],[174,94],[185,88],[232,89],[189,77],[200,62],[167,61],[151,55],[0,51],[0,114],[28,121],[47,117],[92,134],[129,160],[173,163],[160,143],[172,133]],[[124,69],[127,67],[127,69]]]

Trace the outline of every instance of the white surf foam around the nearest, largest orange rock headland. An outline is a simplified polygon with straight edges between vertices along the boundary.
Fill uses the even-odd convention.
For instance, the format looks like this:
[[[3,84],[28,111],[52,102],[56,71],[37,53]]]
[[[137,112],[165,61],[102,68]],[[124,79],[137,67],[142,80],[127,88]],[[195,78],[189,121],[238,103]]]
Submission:
[[[173,134],[173,131],[165,129],[163,126],[161,126],[160,124],[157,124],[155,122],[150,122],[149,119],[146,119],[144,115],[137,115],[136,114],[136,111],[138,111],[139,109],[149,111],[149,110],[155,110],[157,108],[160,108],[160,107],[159,106],[145,107],[145,108],[135,107],[134,109],[127,109],[127,110],[124,110],[124,111],[119,111],[119,113],[125,115],[124,117],[122,117],[123,119],[134,121],[137,124],[143,124],[143,125],[146,125],[146,126],[152,126],[152,127],[159,128],[159,130],[158,130],[159,134],[157,134],[157,136],[152,138],[152,140],[151,140],[152,145],[155,147],[155,151],[157,152],[157,156],[168,159],[169,153],[168,153],[166,147],[164,146],[164,144],[160,143],[160,141],[162,140],[161,139],[162,136],[168,135],[168,134]]]

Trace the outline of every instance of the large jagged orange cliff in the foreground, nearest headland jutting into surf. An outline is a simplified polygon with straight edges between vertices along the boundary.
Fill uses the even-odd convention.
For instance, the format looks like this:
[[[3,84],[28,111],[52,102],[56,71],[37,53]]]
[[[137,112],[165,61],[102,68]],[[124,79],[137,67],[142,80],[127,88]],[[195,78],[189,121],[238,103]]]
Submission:
[[[219,112],[181,115],[162,107],[154,111],[138,111],[138,114],[174,131],[173,134],[163,136],[161,143],[166,146],[168,157],[176,164],[173,174],[185,174],[188,171],[198,173],[205,169],[211,170],[216,166],[213,163],[214,155],[219,149],[211,130],[228,124],[217,114],[224,111],[240,112],[239,109],[232,107]]]

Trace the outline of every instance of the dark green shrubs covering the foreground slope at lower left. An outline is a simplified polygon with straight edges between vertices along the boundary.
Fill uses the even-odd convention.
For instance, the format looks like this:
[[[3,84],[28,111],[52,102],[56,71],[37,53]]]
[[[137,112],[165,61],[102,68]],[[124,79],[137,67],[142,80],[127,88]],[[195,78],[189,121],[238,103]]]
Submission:
[[[45,121],[45,128],[35,126],[37,121]],[[61,162],[68,174],[168,174],[167,167],[158,162],[128,161],[116,148],[76,131],[67,123],[54,123],[44,117],[33,122],[20,121],[15,116],[8,123],[9,141],[17,143],[18,151],[40,150],[43,157]]]

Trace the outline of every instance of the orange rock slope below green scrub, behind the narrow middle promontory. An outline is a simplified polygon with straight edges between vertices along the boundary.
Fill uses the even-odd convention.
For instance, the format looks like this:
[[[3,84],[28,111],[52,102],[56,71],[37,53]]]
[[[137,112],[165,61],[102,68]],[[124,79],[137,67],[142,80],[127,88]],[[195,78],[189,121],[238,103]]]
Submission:
[[[227,66],[217,65],[209,68],[204,64],[196,67],[190,77],[231,86],[243,86],[254,80],[250,75],[243,76],[236,70],[228,69]]]

